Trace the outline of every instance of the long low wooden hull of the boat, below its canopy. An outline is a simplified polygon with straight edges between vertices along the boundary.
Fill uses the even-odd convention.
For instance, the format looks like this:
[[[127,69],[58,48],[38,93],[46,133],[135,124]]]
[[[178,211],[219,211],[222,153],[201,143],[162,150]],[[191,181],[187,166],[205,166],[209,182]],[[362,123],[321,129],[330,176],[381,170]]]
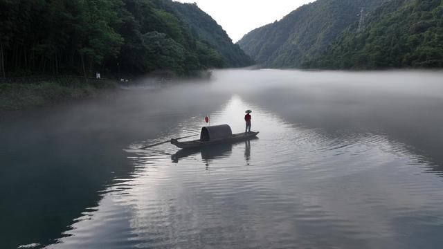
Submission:
[[[188,148],[198,148],[198,147],[205,147],[210,145],[219,145],[223,143],[228,142],[237,142],[242,140],[247,140],[250,138],[255,138],[259,131],[251,131],[248,133],[237,133],[233,134],[233,136],[230,136],[228,138],[219,138],[215,140],[209,140],[209,141],[201,141],[201,140],[192,140],[192,141],[186,141],[186,142],[179,142],[177,139],[171,139],[172,145],[175,145],[182,149],[188,149]]]

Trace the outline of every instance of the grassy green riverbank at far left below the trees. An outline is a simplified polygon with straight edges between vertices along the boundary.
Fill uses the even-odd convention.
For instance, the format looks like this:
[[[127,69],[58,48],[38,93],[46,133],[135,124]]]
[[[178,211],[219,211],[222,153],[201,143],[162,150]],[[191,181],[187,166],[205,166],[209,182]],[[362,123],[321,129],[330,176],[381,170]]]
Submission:
[[[108,89],[117,89],[113,80],[60,78],[35,82],[0,82],[0,110],[42,107],[71,100],[94,97]]]

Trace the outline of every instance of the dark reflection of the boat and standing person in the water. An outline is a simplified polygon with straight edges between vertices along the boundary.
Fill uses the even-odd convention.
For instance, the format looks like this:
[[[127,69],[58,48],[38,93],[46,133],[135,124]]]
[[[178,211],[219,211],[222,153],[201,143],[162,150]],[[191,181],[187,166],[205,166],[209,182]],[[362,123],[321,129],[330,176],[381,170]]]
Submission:
[[[251,160],[251,140],[256,140],[258,138],[251,138],[245,141],[245,149],[244,149],[244,159],[246,160],[246,165],[249,164],[249,160]],[[189,156],[193,156],[196,154],[201,154],[201,161],[206,166],[209,166],[213,160],[228,158],[233,152],[233,145],[241,144],[242,142],[234,142],[234,143],[226,143],[221,145],[213,145],[209,147],[200,147],[200,148],[192,148],[192,149],[180,149],[176,154],[171,156],[171,160],[173,163],[179,163],[179,160],[184,158],[188,158]]]

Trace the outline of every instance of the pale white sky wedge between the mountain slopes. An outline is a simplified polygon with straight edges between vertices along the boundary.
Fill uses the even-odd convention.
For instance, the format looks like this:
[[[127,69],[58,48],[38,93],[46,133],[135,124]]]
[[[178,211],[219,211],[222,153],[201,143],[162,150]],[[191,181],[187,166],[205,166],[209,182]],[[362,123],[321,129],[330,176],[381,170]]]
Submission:
[[[196,2],[221,25],[233,42],[254,28],[280,20],[292,10],[314,0],[180,0]]]

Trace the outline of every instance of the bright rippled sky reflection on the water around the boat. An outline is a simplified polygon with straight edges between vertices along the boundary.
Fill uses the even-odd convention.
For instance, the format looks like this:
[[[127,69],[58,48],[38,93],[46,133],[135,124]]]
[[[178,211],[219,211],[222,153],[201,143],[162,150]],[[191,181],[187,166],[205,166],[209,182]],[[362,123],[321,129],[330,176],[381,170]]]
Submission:
[[[235,97],[211,120],[248,108]],[[443,182],[403,143],[254,109],[262,132],[250,143],[189,153],[130,145],[132,176],[115,178],[50,248],[410,248],[393,238],[443,228]],[[196,119],[143,144],[195,132]]]

